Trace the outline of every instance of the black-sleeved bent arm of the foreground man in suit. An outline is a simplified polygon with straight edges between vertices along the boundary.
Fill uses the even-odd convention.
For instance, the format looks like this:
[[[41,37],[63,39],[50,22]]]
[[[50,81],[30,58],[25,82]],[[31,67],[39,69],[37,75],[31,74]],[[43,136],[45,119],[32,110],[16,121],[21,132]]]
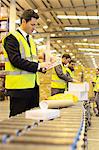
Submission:
[[[4,40],[4,48],[8,54],[8,58],[11,64],[21,70],[36,73],[38,69],[38,63],[30,62],[24,58],[21,58],[19,43],[17,39],[10,34]]]

